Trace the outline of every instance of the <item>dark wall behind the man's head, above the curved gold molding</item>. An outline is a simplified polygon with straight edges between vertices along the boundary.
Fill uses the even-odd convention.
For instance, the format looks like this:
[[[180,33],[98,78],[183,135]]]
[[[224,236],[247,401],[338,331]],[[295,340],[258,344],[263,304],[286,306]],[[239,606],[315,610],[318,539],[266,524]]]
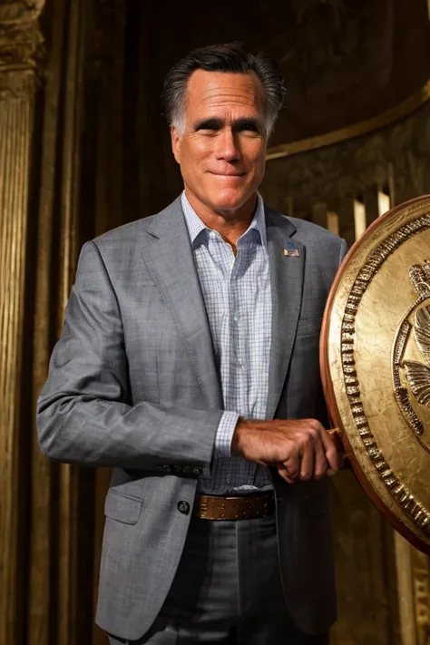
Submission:
[[[278,62],[288,95],[270,145],[370,118],[430,76],[425,0],[146,3],[128,0],[125,37],[126,210],[160,210],[181,190],[161,115],[164,76],[203,44],[239,40]]]

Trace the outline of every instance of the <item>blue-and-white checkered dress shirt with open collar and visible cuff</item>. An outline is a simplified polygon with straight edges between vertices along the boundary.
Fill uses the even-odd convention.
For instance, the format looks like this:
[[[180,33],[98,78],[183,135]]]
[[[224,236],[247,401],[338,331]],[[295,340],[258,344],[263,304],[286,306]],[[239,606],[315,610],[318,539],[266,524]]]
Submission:
[[[237,255],[208,229],[182,193],[182,208],[200,279],[226,412],[215,438],[211,477],[199,493],[249,494],[272,488],[269,469],[230,456],[239,415],[267,418],[272,304],[263,200],[238,239]]]

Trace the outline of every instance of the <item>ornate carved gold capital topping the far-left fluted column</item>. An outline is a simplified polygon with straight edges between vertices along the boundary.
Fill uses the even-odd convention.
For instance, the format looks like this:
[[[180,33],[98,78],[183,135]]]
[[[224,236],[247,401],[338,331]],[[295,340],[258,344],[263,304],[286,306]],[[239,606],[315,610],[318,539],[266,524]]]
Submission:
[[[3,0],[0,5],[0,100],[34,92],[41,45],[38,18],[44,0]]]

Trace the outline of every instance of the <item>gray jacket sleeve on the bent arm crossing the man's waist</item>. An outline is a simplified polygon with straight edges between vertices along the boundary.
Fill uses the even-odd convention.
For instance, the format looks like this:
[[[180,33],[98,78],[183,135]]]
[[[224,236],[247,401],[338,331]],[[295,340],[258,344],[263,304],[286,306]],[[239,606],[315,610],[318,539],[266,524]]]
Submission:
[[[222,410],[129,405],[118,301],[97,246],[83,246],[64,329],[37,403],[42,452],[65,463],[210,476]]]

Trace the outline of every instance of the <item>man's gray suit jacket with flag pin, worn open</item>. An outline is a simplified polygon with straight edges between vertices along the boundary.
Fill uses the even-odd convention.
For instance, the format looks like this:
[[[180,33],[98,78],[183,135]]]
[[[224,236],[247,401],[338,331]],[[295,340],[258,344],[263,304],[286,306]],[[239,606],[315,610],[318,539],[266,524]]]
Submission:
[[[273,294],[269,418],[326,423],[318,336],[346,244],[269,208],[266,220]],[[284,254],[288,242],[298,256]],[[37,414],[44,454],[114,468],[96,621],[138,639],[170,589],[190,523],[178,504],[192,507],[198,478],[210,474],[222,415],[181,200],[83,246]],[[327,481],[275,479],[275,487],[289,611],[302,630],[326,630],[336,618]]]

